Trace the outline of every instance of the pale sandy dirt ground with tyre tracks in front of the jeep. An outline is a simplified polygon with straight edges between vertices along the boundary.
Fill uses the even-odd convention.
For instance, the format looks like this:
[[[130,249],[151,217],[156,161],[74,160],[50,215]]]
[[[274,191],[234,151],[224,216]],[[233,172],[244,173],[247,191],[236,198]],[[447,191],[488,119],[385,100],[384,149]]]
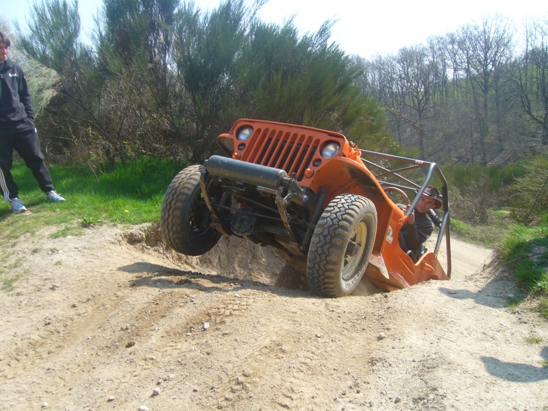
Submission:
[[[548,410],[547,323],[505,308],[488,249],[453,240],[449,282],[323,299],[273,286],[269,249],[158,240],[1,240],[21,274],[0,294],[1,410]]]

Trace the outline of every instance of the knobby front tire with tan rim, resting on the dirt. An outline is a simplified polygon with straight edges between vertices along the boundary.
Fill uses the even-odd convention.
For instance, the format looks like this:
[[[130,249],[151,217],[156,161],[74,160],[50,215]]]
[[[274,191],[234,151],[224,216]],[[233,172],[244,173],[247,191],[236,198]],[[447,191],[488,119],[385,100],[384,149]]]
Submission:
[[[344,297],[362,279],[377,232],[377,210],[365,197],[341,194],[321,215],[308,250],[306,276],[310,291]]]

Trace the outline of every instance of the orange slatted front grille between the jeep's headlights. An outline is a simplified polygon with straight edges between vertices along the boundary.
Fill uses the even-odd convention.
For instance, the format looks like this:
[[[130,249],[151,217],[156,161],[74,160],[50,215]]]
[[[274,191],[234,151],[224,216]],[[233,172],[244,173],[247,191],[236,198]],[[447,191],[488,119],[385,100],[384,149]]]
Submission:
[[[285,170],[289,176],[295,173],[297,181],[303,179],[321,141],[314,136],[271,128],[257,129],[253,137],[255,145],[248,147],[242,160]]]

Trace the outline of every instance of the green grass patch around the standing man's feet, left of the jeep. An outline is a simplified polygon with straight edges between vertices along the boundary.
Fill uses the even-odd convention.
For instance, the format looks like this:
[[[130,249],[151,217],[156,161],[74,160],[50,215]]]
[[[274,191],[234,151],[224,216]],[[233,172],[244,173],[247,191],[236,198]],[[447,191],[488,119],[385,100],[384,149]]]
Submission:
[[[29,169],[14,164],[12,174],[19,198],[29,210],[13,214],[8,202],[0,206],[3,237],[36,234],[45,225],[55,227],[51,236],[77,236],[89,225],[135,225],[158,221],[164,192],[183,168],[175,161],[141,158],[114,168],[88,164],[49,166],[55,190],[65,197],[51,203],[38,188]]]

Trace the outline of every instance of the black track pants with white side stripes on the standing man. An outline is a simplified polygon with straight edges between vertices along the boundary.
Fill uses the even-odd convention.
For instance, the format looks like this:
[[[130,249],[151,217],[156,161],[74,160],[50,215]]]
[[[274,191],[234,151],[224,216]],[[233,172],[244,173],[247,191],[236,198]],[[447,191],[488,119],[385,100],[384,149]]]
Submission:
[[[29,119],[14,123],[0,123],[0,190],[6,201],[19,195],[19,188],[12,177],[13,150],[32,171],[43,192],[53,190],[51,175],[40,151],[40,140],[34,123]]]

